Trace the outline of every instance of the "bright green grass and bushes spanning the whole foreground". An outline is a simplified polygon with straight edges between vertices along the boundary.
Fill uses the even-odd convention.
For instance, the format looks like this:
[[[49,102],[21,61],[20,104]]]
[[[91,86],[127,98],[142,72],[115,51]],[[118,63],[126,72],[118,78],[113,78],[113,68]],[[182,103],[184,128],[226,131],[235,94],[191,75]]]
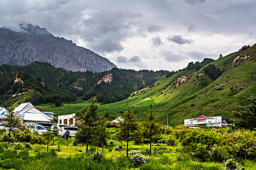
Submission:
[[[151,156],[147,142],[130,142],[128,158],[125,149],[115,150],[116,146],[125,148],[126,145],[116,139],[115,133],[111,134],[101,157],[96,152],[97,146],[91,145],[89,153],[85,153],[85,146],[74,145],[75,138],[65,141],[55,137],[55,145],[50,146],[47,153],[43,136],[17,132],[7,144],[7,134],[1,131],[0,170],[229,170],[225,163],[231,162],[230,159],[232,165],[238,163],[236,168],[256,169],[255,131],[195,130],[185,126],[165,127],[164,130],[164,134],[154,140]],[[108,129],[108,132],[115,131],[116,128]]]

